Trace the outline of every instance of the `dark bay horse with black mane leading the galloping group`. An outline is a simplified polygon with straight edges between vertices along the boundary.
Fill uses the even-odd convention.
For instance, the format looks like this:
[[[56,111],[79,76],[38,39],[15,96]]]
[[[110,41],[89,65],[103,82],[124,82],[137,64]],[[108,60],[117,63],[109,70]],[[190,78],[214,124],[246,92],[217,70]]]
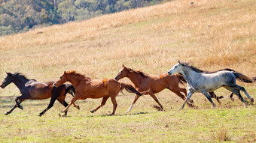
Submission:
[[[11,83],[14,83],[20,89],[21,95],[15,99],[16,104],[5,115],[11,114],[17,107],[23,110],[23,106],[20,106],[20,103],[25,100],[44,100],[50,98],[47,108],[38,115],[41,116],[53,106],[55,100],[58,100],[63,106],[68,106],[68,103],[65,101],[66,94],[72,94],[73,97],[75,95],[75,87],[73,85],[66,84],[55,88],[53,82],[38,82],[35,79],[27,79],[22,73],[7,73],[0,87],[5,88]],[[66,115],[67,112],[65,112],[64,116]]]

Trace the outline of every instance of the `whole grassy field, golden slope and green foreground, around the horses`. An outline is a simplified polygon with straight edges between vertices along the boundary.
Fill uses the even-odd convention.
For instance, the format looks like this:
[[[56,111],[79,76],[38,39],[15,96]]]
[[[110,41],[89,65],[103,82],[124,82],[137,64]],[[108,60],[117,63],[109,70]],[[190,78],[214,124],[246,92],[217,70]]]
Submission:
[[[114,77],[121,64],[157,75],[178,59],[201,70],[230,67],[256,76],[254,7],[253,0],[179,0],[0,37],[0,80],[7,71],[54,81],[64,70],[104,79]],[[255,83],[238,84],[256,99]],[[126,115],[133,94],[125,92],[117,97],[114,116],[108,116],[110,101],[89,112],[101,100],[78,101],[81,110],[70,108],[67,118],[59,117],[59,103],[37,116],[50,100],[25,101],[24,111],[3,115],[19,92],[13,84],[0,89],[0,142],[256,142],[255,103],[244,108],[237,97],[229,100],[223,88],[216,94],[226,98],[221,106],[214,100],[216,109],[202,94],[194,94],[198,109],[178,111],[183,101],[164,90],[157,94],[163,112],[145,95]]]

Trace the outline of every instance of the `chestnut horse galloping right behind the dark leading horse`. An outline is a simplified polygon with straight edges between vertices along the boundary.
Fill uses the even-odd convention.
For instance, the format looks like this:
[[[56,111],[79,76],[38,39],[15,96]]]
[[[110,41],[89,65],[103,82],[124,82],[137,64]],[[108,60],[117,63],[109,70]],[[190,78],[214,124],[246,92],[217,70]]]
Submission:
[[[81,75],[80,73],[76,73],[74,70],[71,71],[65,71],[62,76],[60,76],[59,80],[55,83],[56,87],[59,87],[59,85],[62,85],[65,82],[70,82],[72,85],[75,86],[75,97],[72,99],[71,103],[69,103],[69,106],[72,104],[75,105],[76,100],[85,100],[87,98],[103,98],[102,103],[100,106],[98,106],[96,109],[93,109],[90,112],[96,112],[100,107],[104,106],[108,98],[111,98],[111,101],[113,103],[113,112],[111,115],[114,115],[115,110],[117,109],[117,101],[116,97],[117,94],[123,90],[123,88],[126,89],[126,91],[133,92],[135,94],[138,94],[141,96],[142,94],[136,91],[135,88],[133,88],[133,85],[117,82],[115,79],[90,79],[90,77]],[[66,107],[66,109],[62,110],[62,112],[67,112],[69,109],[69,106]]]

